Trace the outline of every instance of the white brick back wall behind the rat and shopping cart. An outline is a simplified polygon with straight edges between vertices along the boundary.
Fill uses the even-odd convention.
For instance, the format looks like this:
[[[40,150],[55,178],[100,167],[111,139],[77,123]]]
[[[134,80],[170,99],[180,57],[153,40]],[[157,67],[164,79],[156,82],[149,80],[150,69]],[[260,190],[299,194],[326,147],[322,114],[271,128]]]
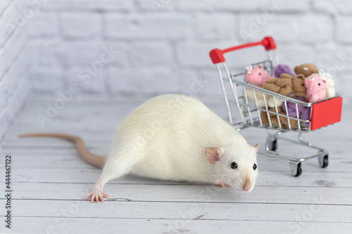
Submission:
[[[38,1],[42,4],[38,5]],[[5,91],[18,98],[26,93],[12,90],[25,87],[11,86],[10,76],[29,81],[39,95],[57,96],[58,91],[79,82],[82,91],[77,96],[82,98],[182,93],[189,89],[194,77],[202,77],[208,83],[196,96],[222,101],[218,74],[208,57],[210,49],[272,35],[282,63],[294,66],[313,62],[334,73],[339,93],[346,99],[352,98],[351,88],[341,85],[351,83],[349,0],[28,2],[37,2],[32,5],[40,11],[25,18],[24,23],[15,17],[15,12],[24,15],[27,1],[0,3],[1,97]],[[5,22],[24,26],[11,34],[5,30]],[[113,60],[103,63],[110,58],[106,57],[107,48],[117,53]],[[265,56],[263,48],[254,48],[226,58],[236,72]],[[24,69],[15,69],[20,59],[25,67],[31,66],[25,78],[22,72],[11,72],[11,67]],[[89,82],[85,83],[87,77]],[[11,91],[6,86],[11,86]],[[4,115],[14,115],[18,109],[11,110],[11,100],[15,99],[1,98],[0,123],[4,122]]]

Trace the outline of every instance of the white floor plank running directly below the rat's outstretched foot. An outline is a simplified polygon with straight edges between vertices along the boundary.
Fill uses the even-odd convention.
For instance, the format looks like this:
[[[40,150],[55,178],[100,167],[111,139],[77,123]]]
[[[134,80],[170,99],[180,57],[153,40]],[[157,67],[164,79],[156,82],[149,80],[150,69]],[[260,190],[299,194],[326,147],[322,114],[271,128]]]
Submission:
[[[5,207],[6,201],[0,200]],[[232,221],[299,221],[352,223],[352,206],[324,204],[244,204],[202,202],[118,202],[13,200],[13,215],[108,219],[205,219]],[[42,209],[46,207],[46,209]],[[191,209],[192,207],[192,209]],[[194,209],[193,209],[194,207]],[[76,208],[76,209],[74,209]],[[151,212],[151,208],[153,212]],[[268,212],[268,209],[275,212]],[[202,216],[203,214],[203,216]],[[332,216],[334,214],[334,216]]]

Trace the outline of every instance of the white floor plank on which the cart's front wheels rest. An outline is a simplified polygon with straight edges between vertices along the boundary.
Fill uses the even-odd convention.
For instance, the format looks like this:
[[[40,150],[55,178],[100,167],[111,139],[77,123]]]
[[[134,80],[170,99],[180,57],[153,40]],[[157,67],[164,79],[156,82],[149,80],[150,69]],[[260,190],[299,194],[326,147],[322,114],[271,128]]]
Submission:
[[[105,155],[106,150],[102,148],[92,148],[92,152],[98,155]],[[14,171],[16,168],[94,168],[93,166],[84,162],[75,148],[62,149],[40,149],[40,150],[8,150],[11,151],[13,155],[13,167]],[[1,155],[5,155],[6,151],[1,150]],[[308,160],[303,162],[303,174],[305,172],[321,172],[322,174],[327,173],[351,173],[351,157],[344,157],[342,153],[341,157],[329,157],[329,167],[322,169],[318,164],[318,159]],[[279,160],[277,158],[258,156],[258,167],[259,173],[267,172],[284,172],[282,175],[287,175],[289,173],[289,162],[287,160]],[[268,171],[267,171],[268,170]],[[0,178],[1,180],[1,178]]]

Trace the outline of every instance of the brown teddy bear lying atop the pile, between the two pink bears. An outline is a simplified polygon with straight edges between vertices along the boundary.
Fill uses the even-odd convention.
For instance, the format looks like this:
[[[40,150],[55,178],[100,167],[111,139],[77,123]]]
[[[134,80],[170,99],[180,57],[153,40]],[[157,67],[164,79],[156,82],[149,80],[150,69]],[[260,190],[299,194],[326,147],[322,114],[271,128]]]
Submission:
[[[294,93],[297,97],[304,97],[307,91],[306,84],[304,83],[305,79],[306,77],[304,77],[303,74],[298,74],[296,77],[293,77],[291,74],[282,73],[281,78],[265,80],[263,88],[284,96]]]

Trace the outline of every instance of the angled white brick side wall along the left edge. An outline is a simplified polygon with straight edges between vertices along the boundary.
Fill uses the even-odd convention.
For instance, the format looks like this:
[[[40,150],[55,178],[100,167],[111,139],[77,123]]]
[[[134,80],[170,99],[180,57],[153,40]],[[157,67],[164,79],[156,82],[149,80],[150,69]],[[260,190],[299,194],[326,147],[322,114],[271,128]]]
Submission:
[[[31,90],[28,20],[25,1],[0,3],[0,143]]]

